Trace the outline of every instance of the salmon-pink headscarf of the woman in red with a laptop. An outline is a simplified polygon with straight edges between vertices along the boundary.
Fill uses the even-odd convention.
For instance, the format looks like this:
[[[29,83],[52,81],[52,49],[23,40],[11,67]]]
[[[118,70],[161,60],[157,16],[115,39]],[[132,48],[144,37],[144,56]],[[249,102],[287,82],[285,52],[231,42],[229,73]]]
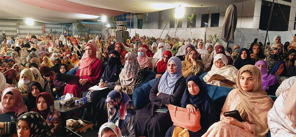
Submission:
[[[79,76],[89,76],[91,75],[91,64],[96,62],[98,58],[96,58],[96,47],[98,47],[98,43],[94,40],[89,40],[85,48],[89,46],[91,48],[91,56],[87,56],[86,53],[83,54],[82,59],[80,60],[80,74]]]

